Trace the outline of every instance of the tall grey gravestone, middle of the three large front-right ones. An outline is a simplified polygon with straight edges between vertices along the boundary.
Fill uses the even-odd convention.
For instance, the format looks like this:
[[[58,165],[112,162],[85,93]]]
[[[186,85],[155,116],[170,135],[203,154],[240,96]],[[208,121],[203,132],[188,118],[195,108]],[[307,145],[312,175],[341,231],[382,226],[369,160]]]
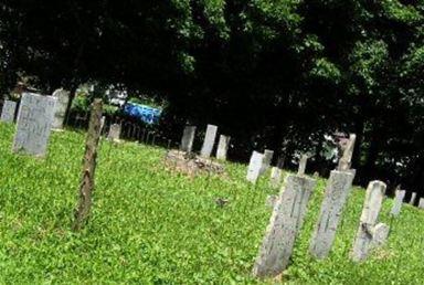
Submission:
[[[330,253],[353,178],[348,171],[332,170],[330,173],[309,246],[310,254],[316,258],[325,258]]]

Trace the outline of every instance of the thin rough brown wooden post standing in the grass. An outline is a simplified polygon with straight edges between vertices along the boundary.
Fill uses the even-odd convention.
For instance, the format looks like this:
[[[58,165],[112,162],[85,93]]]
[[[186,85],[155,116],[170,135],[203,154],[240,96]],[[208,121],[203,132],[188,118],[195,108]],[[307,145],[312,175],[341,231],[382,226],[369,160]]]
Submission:
[[[92,208],[92,192],[94,189],[94,176],[96,170],[97,146],[100,137],[102,99],[93,103],[89,127],[85,145],[83,178],[80,187],[80,201],[75,211],[74,231],[80,231],[89,217]]]

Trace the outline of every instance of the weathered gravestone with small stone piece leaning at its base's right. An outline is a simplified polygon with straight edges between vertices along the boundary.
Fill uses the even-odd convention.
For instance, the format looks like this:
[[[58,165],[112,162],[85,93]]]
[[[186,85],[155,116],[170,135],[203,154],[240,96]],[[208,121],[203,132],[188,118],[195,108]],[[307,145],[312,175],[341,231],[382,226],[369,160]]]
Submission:
[[[389,226],[379,223],[379,213],[383,203],[386,186],[381,181],[371,181],[367,188],[359,229],[351,253],[354,262],[367,258],[370,250],[384,243],[389,235]]]

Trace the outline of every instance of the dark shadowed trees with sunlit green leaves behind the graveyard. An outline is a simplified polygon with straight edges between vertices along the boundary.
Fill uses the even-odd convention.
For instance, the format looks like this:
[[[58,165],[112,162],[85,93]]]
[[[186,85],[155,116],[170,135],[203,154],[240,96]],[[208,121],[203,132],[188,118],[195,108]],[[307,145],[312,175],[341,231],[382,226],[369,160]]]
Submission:
[[[218,124],[236,159],[319,165],[325,134],[356,133],[360,183],[423,191],[423,0],[3,0],[1,89],[123,84]]]

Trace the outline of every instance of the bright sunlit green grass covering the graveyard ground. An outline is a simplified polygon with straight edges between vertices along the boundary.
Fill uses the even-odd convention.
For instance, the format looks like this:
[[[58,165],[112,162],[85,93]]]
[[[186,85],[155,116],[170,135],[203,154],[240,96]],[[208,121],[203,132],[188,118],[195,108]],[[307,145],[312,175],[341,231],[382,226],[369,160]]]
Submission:
[[[84,135],[54,133],[45,159],[11,154],[13,127],[0,124],[0,283],[255,283],[254,258],[271,209],[266,179],[256,188],[246,167],[227,178],[191,179],[165,169],[165,149],[102,142],[93,214],[70,229],[76,205]],[[354,189],[330,256],[307,253],[325,181],[312,194],[293,264],[294,284],[423,284],[424,211],[404,205],[384,247],[361,264],[349,260],[363,203]],[[227,198],[220,208],[216,198]],[[381,221],[390,222],[392,200]]]

